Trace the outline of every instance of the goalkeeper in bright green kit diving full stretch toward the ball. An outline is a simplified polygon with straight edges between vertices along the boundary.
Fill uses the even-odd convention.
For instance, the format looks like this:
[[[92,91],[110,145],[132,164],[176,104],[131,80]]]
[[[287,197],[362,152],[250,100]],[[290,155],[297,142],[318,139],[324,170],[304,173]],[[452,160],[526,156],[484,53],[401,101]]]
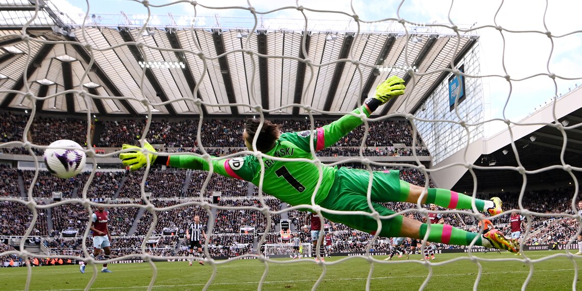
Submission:
[[[335,122],[325,125],[313,131],[313,145],[315,151],[330,147],[350,131],[363,123],[362,115],[370,116],[380,105],[385,104],[391,98],[404,94],[404,80],[397,76],[390,77],[380,84],[375,95],[365,101],[360,108],[352,111],[354,116],[347,114]],[[323,208],[336,211],[364,211],[371,213],[366,197],[370,172],[361,169],[349,169],[321,165],[321,184],[316,191],[316,185],[320,180],[320,169],[311,162],[306,161],[278,161],[271,157],[279,158],[303,158],[315,159],[310,150],[312,132],[281,133],[279,125],[264,120],[260,127],[260,119],[249,119],[246,122],[243,139],[249,150],[261,151],[269,157],[263,157],[264,180],[262,190],[291,205],[311,205],[311,196],[315,195],[315,204]],[[253,147],[253,139],[258,134],[256,147]],[[147,164],[149,159],[152,164],[161,164],[183,169],[198,169],[210,171],[210,165],[201,157],[195,155],[171,155],[161,156],[151,154],[154,148],[147,142],[144,149],[133,145],[123,145],[123,165],[129,166],[131,171],[139,169]],[[149,152],[148,152],[149,151]],[[255,155],[244,157],[212,160],[212,171],[228,178],[242,179],[255,185],[261,178],[261,164]],[[374,171],[372,172],[371,204],[374,211],[381,216],[388,216],[395,212],[379,203],[389,201],[405,201],[417,203],[420,197],[422,204],[437,204],[442,207],[455,209],[471,209],[471,198],[455,191],[445,189],[428,189],[428,193],[422,195],[423,187],[416,186],[400,180],[399,171]],[[491,215],[499,214],[501,200],[475,200],[475,205],[481,211],[487,211]],[[322,211],[324,217],[337,223],[343,223],[350,228],[375,234],[378,223],[370,215],[361,214],[331,214]],[[410,237],[424,239],[428,231],[428,224],[414,219],[397,215],[393,218],[383,218],[382,229],[379,236],[383,237]],[[478,236],[478,237],[477,237]],[[506,239],[499,230],[491,230],[484,235],[466,232],[453,228],[450,225],[432,224],[428,241],[445,244],[469,245],[477,237],[475,245],[495,247],[516,253],[519,251],[519,243]]]

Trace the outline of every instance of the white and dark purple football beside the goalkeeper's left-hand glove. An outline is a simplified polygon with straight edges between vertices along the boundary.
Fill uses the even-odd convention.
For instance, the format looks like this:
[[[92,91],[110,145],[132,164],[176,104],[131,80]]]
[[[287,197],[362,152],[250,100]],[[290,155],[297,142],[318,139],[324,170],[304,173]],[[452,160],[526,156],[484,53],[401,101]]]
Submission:
[[[57,140],[44,151],[44,164],[52,175],[71,178],[85,168],[87,156],[80,144],[72,140]]]

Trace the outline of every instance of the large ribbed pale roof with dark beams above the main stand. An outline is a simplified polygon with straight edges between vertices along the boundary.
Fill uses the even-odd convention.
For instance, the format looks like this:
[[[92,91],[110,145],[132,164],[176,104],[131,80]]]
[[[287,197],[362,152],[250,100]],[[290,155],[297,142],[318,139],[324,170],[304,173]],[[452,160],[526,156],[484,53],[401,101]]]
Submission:
[[[411,86],[407,69],[425,73],[446,68],[478,39],[426,26],[414,27],[416,33],[406,35],[402,25],[393,22],[361,27],[360,34],[354,33],[354,23],[343,30],[324,30],[315,22],[306,36],[303,30],[272,29],[274,24],[254,31],[246,28],[254,22],[241,29],[240,23],[229,28],[224,24],[229,22],[216,21],[190,30],[173,17],[166,22],[157,19],[140,30],[143,19],[125,14],[116,23],[98,23],[93,15],[81,27],[74,17],[55,13],[50,3],[40,2],[39,16],[26,27],[30,38],[22,31],[35,6],[28,1],[0,2],[1,109],[30,109],[34,102],[37,111],[45,113],[143,116],[148,108],[142,101],[148,100],[154,104],[152,113],[173,117],[254,115],[251,107],[257,105],[276,116],[306,114],[307,107],[348,112],[359,99],[373,94],[377,84],[398,74],[413,89],[376,113],[409,113],[448,73],[416,76]],[[305,59],[302,40],[313,65],[300,61]],[[257,52],[279,57],[262,58]],[[354,61],[338,62],[346,58]],[[31,96],[51,98],[38,100],[17,92],[27,91],[25,69]],[[88,94],[79,94],[80,90]],[[52,98],[55,94],[59,95]],[[205,103],[200,109],[192,102],[194,95]]]

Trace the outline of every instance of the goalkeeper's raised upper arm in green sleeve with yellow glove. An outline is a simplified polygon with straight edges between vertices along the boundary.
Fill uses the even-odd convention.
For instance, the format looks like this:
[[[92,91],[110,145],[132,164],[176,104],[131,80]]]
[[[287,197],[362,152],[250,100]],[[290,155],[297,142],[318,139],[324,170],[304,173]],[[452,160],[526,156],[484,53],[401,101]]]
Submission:
[[[385,104],[392,98],[404,94],[404,80],[400,79],[398,76],[392,76],[384,81],[384,83],[379,84],[376,88],[374,97],[369,98],[365,101],[364,105],[360,108],[354,109],[352,113],[360,115],[364,113],[366,117],[370,117],[372,112],[374,112],[380,105]],[[346,114],[342,118],[319,127],[314,135],[314,147],[315,151],[323,150],[324,148],[331,147],[333,144],[337,143],[346,134],[352,132],[356,127],[362,124],[362,119],[358,116],[352,114]],[[289,139],[297,139],[294,144],[300,145],[303,150],[309,151],[309,137],[310,131],[305,130],[296,134],[289,133]],[[298,136],[298,137],[296,137]]]

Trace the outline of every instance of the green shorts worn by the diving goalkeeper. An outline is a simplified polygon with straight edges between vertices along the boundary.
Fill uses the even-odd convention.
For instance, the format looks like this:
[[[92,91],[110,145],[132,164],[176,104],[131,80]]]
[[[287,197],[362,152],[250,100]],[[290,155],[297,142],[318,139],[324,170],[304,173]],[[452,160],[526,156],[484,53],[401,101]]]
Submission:
[[[381,216],[395,212],[389,210],[379,202],[405,201],[409,194],[409,183],[400,180],[400,171],[372,172],[371,203],[374,210]],[[371,213],[368,206],[367,191],[370,172],[360,169],[340,168],[335,174],[333,186],[329,190],[321,207],[339,211],[364,211]],[[378,222],[370,215],[363,214],[329,214],[322,212],[324,217],[333,222],[343,223],[350,228],[375,234]],[[381,219],[382,229],[379,236],[399,236],[402,226],[402,215],[390,219]]]

